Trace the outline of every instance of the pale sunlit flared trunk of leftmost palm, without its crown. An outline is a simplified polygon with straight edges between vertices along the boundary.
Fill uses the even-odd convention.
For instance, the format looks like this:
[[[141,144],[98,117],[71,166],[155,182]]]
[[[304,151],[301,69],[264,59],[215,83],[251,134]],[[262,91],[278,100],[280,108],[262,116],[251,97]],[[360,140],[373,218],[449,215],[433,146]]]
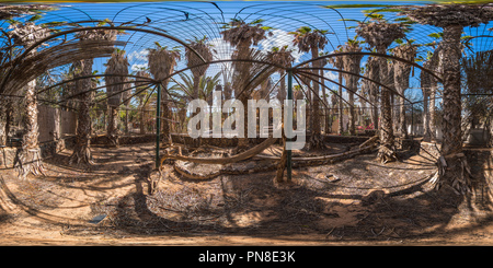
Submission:
[[[19,177],[24,179],[28,173],[44,174],[39,150],[39,131],[37,125],[36,80],[27,83],[24,96],[25,115],[22,121],[24,135],[22,147],[18,151],[15,168]]]

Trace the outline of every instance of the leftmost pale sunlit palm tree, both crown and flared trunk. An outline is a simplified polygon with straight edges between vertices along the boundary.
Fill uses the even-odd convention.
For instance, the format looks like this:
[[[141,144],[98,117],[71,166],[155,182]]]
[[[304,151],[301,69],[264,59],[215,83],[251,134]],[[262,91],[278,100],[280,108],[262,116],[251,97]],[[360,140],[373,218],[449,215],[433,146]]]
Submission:
[[[37,40],[49,35],[49,30],[33,22],[25,24],[11,25],[9,35],[13,38],[14,44],[28,48]],[[36,49],[30,53],[30,57],[36,54]],[[38,125],[37,125],[37,97],[36,97],[36,80],[32,80],[25,86],[25,95],[23,100],[24,118],[22,125],[24,133],[22,137],[22,147],[18,153],[16,170],[21,178],[25,178],[28,173],[37,175],[43,174],[43,163],[41,159]]]

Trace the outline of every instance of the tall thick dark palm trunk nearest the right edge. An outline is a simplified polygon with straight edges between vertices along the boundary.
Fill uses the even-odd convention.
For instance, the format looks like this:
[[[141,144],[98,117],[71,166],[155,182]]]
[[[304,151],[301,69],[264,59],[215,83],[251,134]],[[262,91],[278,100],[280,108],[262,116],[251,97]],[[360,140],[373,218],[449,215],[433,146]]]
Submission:
[[[451,186],[457,193],[470,190],[470,173],[462,153],[461,100],[460,100],[460,36],[462,26],[444,27],[444,121],[439,180],[437,187]]]

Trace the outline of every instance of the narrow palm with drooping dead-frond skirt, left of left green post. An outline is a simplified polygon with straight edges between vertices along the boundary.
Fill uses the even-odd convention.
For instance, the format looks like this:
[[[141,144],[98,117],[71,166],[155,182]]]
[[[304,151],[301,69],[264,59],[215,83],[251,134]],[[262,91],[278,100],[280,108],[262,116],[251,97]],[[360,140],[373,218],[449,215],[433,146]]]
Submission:
[[[118,106],[122,104],[123,92],[126,89],[128,75],[128,59],[125,50],[115,49],[106,63],[105,77],[107,104],[110,106],[110,123],[107,125],[107,139],[111,145],[118,145]]]

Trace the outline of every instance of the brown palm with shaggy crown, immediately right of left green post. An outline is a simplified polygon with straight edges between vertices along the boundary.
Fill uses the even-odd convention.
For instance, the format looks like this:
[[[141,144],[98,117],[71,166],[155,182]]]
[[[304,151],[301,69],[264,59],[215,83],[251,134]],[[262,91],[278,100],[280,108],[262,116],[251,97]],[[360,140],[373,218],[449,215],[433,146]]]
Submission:
[[[168,83],[170,80],[165,78],[173,72],[176,61],[181,59],[181,55],[176,47],[168,49],[167,46],[162,47],[157,42],[154,44],[156,48],[150,48],[148,54],[149,72],[154,77],[154,80],[160,81],[162,85],[161,100],[158,100],[158,105],[161,105],[162,107],[161,118],[164,119],[162,121],[163,143],[172,143],[170,131],[171,113],[168,105]]]

